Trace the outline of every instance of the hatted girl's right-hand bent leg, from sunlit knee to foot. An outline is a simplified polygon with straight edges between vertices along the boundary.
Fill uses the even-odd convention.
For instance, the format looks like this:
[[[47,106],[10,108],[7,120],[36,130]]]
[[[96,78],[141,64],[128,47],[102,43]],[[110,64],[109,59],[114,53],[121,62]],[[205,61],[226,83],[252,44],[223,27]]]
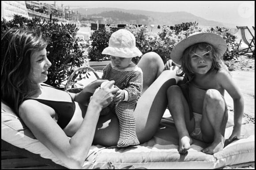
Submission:
[[[211,145],[202,150],[206,154],[214,154],[224,147],[224,133],[228,115],[225,112],[225,101],[218,90],[207,90],[203,101],[203,117],[201,129],[203,140]]]

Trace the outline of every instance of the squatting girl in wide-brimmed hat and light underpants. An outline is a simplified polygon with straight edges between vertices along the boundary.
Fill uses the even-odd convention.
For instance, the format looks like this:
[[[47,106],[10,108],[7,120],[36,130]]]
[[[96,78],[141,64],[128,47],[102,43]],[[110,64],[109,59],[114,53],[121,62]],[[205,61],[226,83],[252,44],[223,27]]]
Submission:
[[[185,84],[167,90],[169,111],[179,134],[179,152],[185,153],[193,139],[210,143],[202,152],[214,154],[224,147],[228,118],[225,90],[234,102],[234,127],[229,140],[241,136],[244,99],[223,64],[225,40],[215,33],[193,33],[171,53],[181,65]]]

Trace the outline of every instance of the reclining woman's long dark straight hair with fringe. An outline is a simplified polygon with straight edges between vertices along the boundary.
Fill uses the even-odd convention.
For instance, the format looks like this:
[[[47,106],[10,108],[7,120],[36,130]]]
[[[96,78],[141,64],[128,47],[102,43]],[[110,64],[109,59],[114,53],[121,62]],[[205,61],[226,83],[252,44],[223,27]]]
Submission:
[[[47,40],[38,30],[12,28],[1,36],[1,95],[17,114],[19,105],[31,92],[31,52],[46,46]]]

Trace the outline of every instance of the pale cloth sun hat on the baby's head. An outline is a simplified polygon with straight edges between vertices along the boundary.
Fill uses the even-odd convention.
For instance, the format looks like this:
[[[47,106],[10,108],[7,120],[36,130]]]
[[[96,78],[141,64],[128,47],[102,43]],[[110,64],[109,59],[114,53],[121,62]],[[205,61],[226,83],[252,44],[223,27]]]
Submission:
[[[136,47],[134,35],[128,30],[120,29],[112,33],[109,38],[109,47],[105,48],[102,54],[133,58],[141,56],[142,52]]]

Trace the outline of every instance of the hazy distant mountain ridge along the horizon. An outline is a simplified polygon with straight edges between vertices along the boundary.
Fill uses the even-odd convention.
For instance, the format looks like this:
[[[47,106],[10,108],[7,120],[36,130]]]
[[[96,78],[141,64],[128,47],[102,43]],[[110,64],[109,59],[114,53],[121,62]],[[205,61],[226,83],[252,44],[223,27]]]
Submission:
[[[188,12],[154,12],[154,11],[142,11],[142,10],[125,10],[120,8],[105,8],[105,7],[99,7],[99,8],[77,8],[73,9],[75,11],[78,11],[81,14],[92,16],[92,15],[98,15],[105,11],[122,11],[125,13],[130,13],[133,15],[146,15],[149,17],[148,24],[154,24],[154,25],[168,25],[168,26],[174,26],[175,24],[180,24],[182,22],[198,22],[200,26],[223,26],[223,27],[231,27],[232,24],[225,24],[222,22],[217,21],[210,21],[207,19],[204,19],[202,17],[198,17],[196,15],[193,15]],[[104,14],[104,13],[103,13]],[[103,15],[102,14],[102,15]],[[116,15],[117,16],[117,15]],[[105,17],[105,16],[102,16]],[[136,23],[136,24],[145,24],[145,23]],[[233,27],[233,26],[232,26]]]

